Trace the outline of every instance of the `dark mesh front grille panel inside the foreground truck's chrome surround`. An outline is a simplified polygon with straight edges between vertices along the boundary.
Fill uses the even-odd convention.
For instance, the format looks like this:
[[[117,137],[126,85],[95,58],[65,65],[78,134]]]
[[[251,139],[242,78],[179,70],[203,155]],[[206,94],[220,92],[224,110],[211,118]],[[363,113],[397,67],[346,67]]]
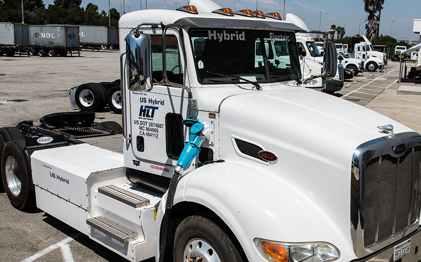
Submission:
[[[417,221],[421,196],[421,147],[401,157],[382,155],[367,162],[364,190],[364,246],[370,247]]]

